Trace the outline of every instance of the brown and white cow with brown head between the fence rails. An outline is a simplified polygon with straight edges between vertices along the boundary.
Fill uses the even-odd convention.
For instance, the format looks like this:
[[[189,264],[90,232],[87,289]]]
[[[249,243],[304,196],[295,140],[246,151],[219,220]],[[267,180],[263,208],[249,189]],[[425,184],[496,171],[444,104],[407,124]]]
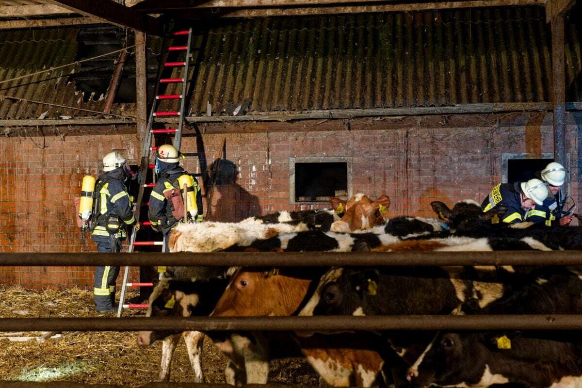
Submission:
[[[281,268],[241,269],[230,280],[213,316],[286,316],[301,307],[311,284],[323,270]],[[267,336],[269,334],[266,334]],[[251,337],[251,338],[249,338]],[[213,338],[214,339],[214,338]],[[262,333],[232,334],[215,344],[232,360],[229,376],[246,373],[247,383],[266,383],[270,341]],[[332,386],[368,387],[381,372],[382,357],[373,349],[377,339],[356,334],[317,335],[297,339],[301,353]],[[234,383],[232,380],[230,383]]]

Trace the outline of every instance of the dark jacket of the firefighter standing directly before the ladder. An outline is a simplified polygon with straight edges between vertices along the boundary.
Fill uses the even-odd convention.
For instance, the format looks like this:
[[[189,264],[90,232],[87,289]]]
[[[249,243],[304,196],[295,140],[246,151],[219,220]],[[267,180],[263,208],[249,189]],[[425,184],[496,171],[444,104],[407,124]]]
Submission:
[[[162,232],[168,233],[180,219],[176,219],[172,215],[172,209],[168,206],[168,201],[164,193],[173,188],[179,188],[178,177],[180,175],[188,174],[180,166],[169,165],[169,163],[162,163],[162,170],[158,181],[155,183],[150,195],[150,209],[148,211],[148,219],[150,219],[154,229],[162,229]],[[169,168],[169,169],[164,169]],[[189,174],[188,174],[189,175]],[[196,178],[190,175],[192,186],[194,187],[194,195],[196,196],[197,217],[196,221],[202,221],[202,195],[200,187]]]

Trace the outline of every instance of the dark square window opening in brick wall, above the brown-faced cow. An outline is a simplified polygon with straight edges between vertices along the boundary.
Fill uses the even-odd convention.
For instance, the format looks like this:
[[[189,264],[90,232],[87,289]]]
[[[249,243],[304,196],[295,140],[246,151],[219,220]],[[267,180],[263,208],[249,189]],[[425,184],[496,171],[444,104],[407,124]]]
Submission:
[[[347,198],[347,163],[295,163],[295,201]]]

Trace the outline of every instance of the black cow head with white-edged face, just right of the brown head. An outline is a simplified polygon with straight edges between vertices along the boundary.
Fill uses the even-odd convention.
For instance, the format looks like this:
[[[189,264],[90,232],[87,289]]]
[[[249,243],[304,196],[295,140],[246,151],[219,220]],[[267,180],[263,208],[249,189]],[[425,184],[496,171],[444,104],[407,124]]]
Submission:
[[[299,315],[364,315],[368,297],[377,294],[378,277],[374,269],[331,269]]]

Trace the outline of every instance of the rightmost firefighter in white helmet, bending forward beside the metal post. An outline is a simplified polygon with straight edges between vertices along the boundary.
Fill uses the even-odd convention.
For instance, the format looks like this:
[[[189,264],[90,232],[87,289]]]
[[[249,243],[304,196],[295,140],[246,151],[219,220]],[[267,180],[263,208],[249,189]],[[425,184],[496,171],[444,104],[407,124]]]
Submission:
[[[570,225],[573,215],[562,217],[560,212],[560,186],[566,180],[566,169],[557,162],[549,163],[545,169],[535,173],[542,181],[548,184],[548,198],[542,205],[527,213],[527,220],[535,223],[545,223],[546,226]]]

